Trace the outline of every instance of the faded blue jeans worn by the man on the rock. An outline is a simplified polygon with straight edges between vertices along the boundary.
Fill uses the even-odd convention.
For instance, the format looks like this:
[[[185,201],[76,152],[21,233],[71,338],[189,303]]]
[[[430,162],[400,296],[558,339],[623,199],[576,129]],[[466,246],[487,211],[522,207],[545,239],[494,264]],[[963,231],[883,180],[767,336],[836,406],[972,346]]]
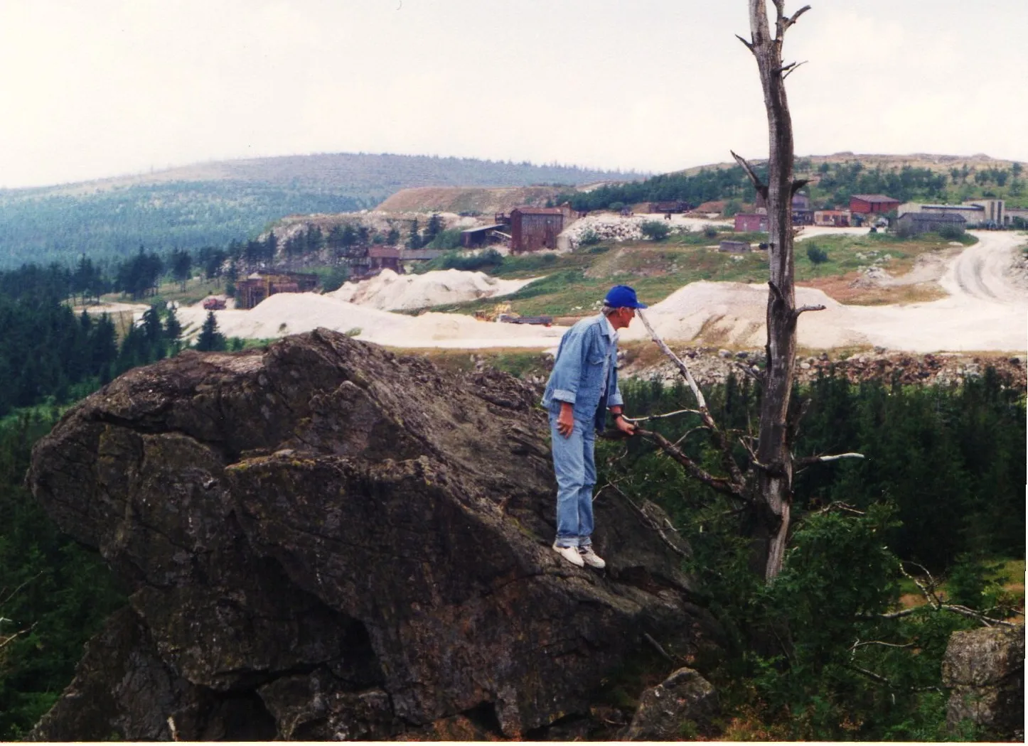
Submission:
[[[556,545],[588,547],[592,544],[592,488],[596,484],[596,424],[592,418],[576,417],[575,430],[564,438],[557,431],[558,412],[550,412],[553,471],[557,475]]]

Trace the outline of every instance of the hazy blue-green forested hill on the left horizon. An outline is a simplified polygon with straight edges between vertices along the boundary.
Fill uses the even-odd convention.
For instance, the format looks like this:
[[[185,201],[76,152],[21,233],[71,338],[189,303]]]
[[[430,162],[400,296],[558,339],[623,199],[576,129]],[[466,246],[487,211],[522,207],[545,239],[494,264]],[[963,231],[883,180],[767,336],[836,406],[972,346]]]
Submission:
[[[564,188],[638,174],[425,155],[334,153],[229,160],[0,190],[0,267],[103,261],[245,240],[287,215],[371,208],[409,187]]]

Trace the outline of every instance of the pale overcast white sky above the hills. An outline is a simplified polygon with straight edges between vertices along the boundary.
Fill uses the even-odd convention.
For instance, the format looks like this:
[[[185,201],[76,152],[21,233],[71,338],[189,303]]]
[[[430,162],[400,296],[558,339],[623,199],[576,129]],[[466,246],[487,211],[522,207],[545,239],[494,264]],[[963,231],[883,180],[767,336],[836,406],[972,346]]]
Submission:
[[[1028,0],[810,0],[797,154],[1028,160]],[[786,10],[800,7],[788,2]],[[0,0],[0,187],[315,152],[767,154],[746,0]]]

